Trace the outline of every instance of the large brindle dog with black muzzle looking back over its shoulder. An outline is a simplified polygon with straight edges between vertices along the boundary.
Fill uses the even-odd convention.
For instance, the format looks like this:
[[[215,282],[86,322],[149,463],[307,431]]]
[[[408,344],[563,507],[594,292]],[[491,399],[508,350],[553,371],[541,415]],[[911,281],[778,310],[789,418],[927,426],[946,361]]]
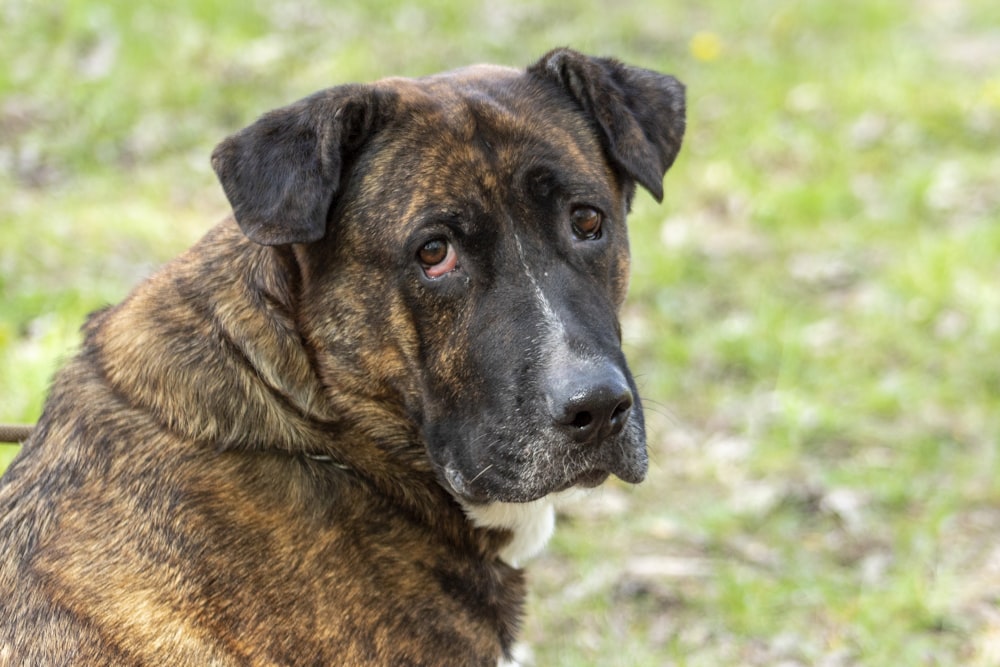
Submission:
[[[647,470],[626,231],[673,77],[569,49],[225,139],[0,483],[0,663],[510,664],[553,499]]]

